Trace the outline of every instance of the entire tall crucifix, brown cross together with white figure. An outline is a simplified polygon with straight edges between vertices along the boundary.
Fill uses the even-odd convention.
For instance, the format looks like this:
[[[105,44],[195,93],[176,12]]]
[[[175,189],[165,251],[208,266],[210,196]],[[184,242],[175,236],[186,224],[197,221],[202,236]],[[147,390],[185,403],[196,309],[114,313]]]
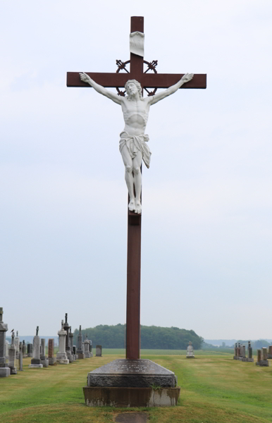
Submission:
[[[130,72],[126,66],[130,63]],[[116,61],[116,73],[67,73],[68,87],[93,87],[122,107],[125,128],[120,133],[119,149],[125,165],[128,186],[128,264],[126,358],[140,358],[140,274],[142,223],[142,160],[149,168],[151,152],[144,134],[149,107],[179,88],[206,88],[205,74],[157,73],[157,61],[144,60],[144,18],[132,16],[130,23],[130,61]],[[147,70],[144,71],[144,65]],[[148,73],[153,71],[153,73]],[[116,87],[117,94],[106,90]],[[125,87],[125,91],[120,88]],[[158,88],[166,91],[156,94]],[[147,97],[142,97],[143,91]],[[152,91],[149,91],[152,90]],[[125,92],[127,96],[125,96]]]

